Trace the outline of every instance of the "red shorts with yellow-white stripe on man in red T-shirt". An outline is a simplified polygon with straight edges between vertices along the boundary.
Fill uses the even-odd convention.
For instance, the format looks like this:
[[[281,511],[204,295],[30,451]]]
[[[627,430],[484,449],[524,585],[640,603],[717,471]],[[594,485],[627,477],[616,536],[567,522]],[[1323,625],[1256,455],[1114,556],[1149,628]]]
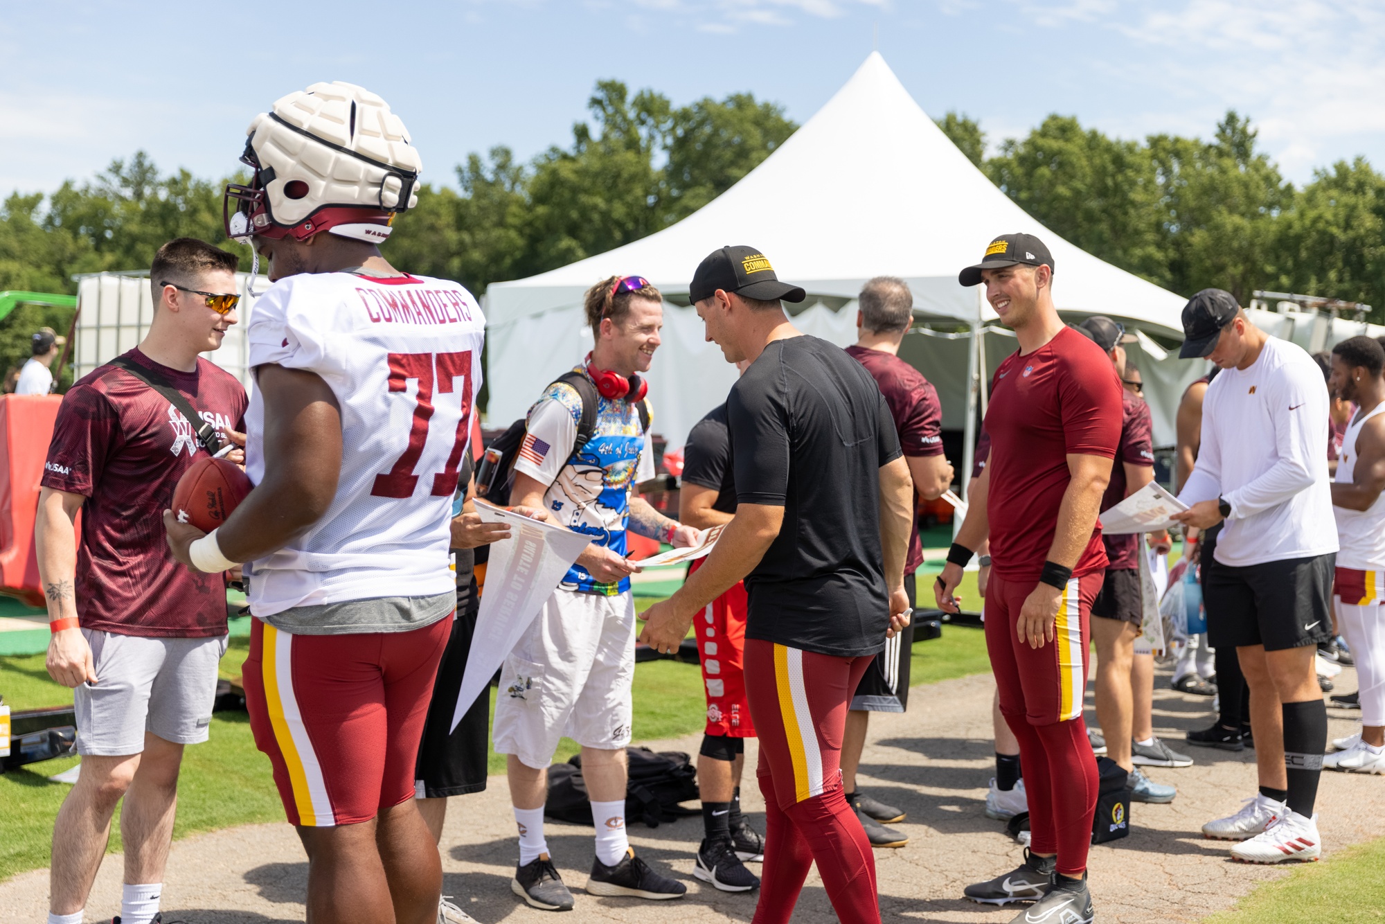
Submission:
[[[986,650],[1000,690],[1000,711],[1024,715],[1029,725],[1053,725],[1082,715],[1091,644],[1091,601],[1102,572],[1073,578],[1058,600],[1054,640],[1030,648],[1017,625],[1025,598],[1037,580],[1006,580],[994,571],[986,585]]]

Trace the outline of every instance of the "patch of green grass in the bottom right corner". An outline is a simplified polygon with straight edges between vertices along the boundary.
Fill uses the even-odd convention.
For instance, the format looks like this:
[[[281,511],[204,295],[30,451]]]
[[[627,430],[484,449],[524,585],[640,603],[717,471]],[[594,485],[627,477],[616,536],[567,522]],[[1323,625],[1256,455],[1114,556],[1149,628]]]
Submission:
[[[1305,863],[1283,880],[1258,885],[1206,924],[1357,924],[1385,920],[1385,838]]]

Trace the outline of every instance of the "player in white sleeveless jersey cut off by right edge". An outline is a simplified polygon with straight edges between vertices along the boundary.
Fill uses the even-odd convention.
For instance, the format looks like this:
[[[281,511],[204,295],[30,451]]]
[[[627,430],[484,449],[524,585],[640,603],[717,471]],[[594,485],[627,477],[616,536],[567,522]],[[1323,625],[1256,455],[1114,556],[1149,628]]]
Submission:
[[[1337,515],[1337,623],[1356,658],[1361,731],[1338,738],[1323,766],[1385,773],[1385,349],[1370,337],[1332,348],[1328,389],[1357,406],[1332,482]]]

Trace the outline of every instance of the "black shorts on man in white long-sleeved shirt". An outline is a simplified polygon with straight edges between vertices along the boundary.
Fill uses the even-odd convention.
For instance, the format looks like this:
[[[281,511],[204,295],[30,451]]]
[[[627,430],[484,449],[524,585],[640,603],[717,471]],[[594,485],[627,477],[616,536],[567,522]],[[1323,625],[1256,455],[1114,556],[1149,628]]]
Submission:
[[[1216,562],[1202,572],[1208,641],[1302,648],[1332,637],[1332,576],[1337,554],[1266,561],[1235,568]]]

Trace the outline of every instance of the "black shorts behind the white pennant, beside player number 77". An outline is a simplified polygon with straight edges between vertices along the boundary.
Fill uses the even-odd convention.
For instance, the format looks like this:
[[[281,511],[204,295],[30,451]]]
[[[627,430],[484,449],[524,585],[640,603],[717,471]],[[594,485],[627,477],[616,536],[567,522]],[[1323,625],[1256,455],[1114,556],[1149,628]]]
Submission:
[[[460,596],[460,594],[458,594]],[[449,795],[481,792],[486,788],[486,743],[490,737],[490,686],[471,704],[457,729],[452,729],[452,715],[457,709],[461,675],[471,654],[471,637],[476,630],[476,611],[481,603],[472,585],[467,603],[452,623],[452,636],[438,664],[432,701],[424,737],[418,745],[414,766],[414,795],[442,799]]]

